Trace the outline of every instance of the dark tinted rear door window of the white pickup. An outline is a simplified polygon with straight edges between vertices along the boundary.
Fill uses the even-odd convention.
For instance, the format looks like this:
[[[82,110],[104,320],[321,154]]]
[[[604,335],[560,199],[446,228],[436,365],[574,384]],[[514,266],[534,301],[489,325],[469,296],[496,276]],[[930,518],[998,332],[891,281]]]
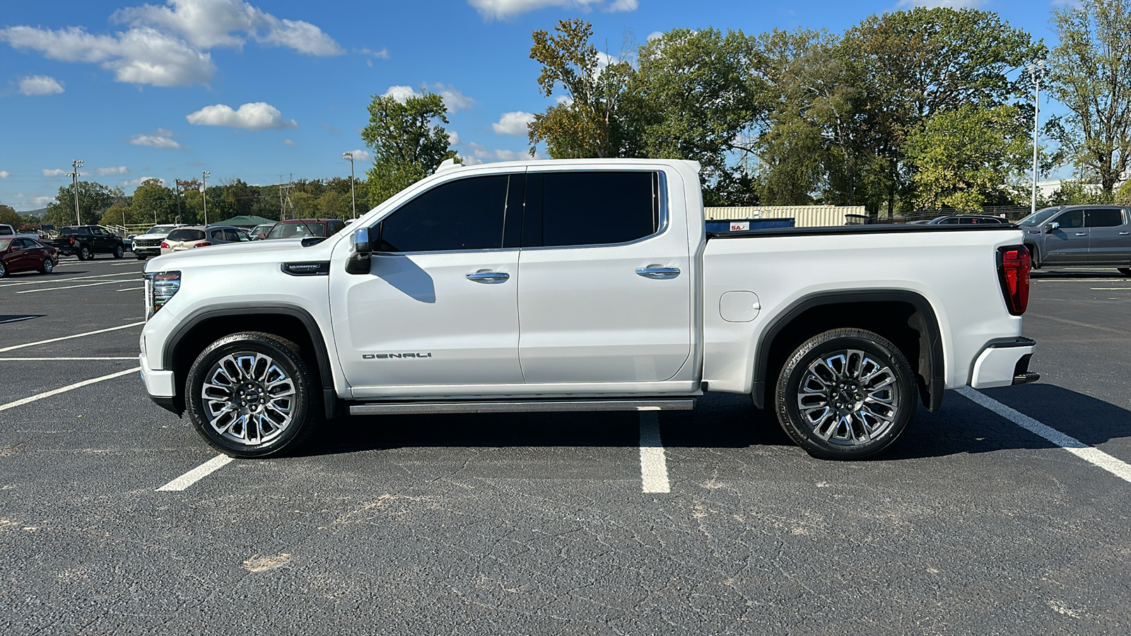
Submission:
[[[543,246],[627,243],[659,230],[655,172],[547,172]]]

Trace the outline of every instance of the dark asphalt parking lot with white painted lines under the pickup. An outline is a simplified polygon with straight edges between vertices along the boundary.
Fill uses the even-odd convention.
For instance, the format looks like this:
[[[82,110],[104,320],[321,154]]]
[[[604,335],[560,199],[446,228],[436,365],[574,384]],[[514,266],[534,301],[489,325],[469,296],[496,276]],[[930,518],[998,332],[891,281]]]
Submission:
[[[141,268],[0,281],[2,634],[1131,633],[1114,269],[1035,273],[1042,380],[950,392],[878,461],[708,395],[344,419],[225,463],[133,371]]]

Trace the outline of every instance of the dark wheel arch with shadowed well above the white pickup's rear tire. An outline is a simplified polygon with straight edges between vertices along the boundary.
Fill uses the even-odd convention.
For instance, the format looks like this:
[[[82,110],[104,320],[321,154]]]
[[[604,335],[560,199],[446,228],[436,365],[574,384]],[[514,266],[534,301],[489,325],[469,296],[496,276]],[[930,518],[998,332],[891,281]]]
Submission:
[[[844,315],[829,318],[830,309]],[[916,371],[923,405],[929,411],[942,405],[946,359],[939,319],[923,295],[908,290],[818,292],[794,301],[758,338],[751,387],[754,405],[765,407],[767,387],[801,343],[840,327],[871,330],[895,343]]]

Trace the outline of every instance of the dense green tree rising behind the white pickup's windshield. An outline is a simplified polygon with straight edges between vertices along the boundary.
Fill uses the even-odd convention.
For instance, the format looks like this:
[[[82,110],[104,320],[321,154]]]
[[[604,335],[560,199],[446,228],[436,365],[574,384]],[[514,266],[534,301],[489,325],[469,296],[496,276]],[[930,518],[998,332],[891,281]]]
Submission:
[[[373,167],[368,173],[371,206],[433,173],[444,160],[458,160],[441,126],[448,123],[447,112],[443,100],[426,91],[403,104],[391,95],[373,95],[369,126],[361,134],[373,149]]]

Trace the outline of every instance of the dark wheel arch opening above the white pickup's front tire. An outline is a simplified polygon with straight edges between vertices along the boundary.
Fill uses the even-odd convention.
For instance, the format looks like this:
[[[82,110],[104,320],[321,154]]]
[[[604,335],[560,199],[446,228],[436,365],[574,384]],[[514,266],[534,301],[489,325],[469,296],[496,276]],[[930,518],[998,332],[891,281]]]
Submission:
[[[295,306],[225,304],[190,316],[170,334],[162,350],[162,368],[173,371],[173,410],[184,412],[183,381],[189,367],[201,351],[216,340],[239,332],[262,332],[286,338],[307,355],[311,355],[322,383],[322,397],[327,419],[339,412],[334,389],[334,371],[322,329],[309,311]]]

